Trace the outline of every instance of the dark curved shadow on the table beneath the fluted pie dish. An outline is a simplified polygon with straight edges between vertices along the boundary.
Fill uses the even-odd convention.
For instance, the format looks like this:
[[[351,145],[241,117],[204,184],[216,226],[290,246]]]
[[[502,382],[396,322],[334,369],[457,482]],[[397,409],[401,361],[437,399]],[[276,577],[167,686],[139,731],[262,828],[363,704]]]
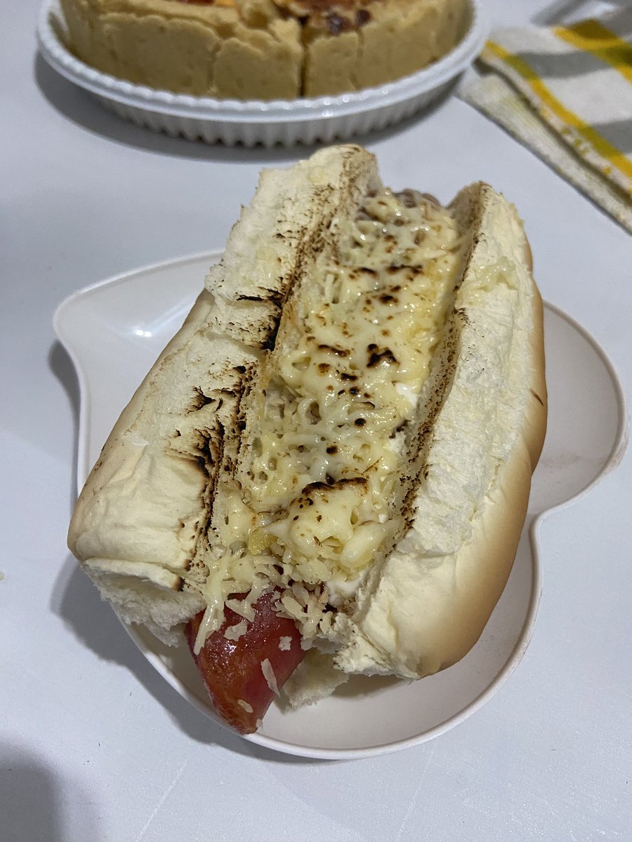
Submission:
[[[34,66],[35,84],[40,93],[56,109],[75,125],[81,126],[94,135],[100,135],[107,140],[127,146],[143,149],[146,152],[168,155],[173,157],[195,158],[200,161],[215,163],[257,163],[268,166],[274,163],[294,161],[297,157],[307,157],[314,150],[327,144],[313,145],[297,144],[295,147],[275,146],[266,148],[256,146],[247,148],[238,144],[234,147],[224,146],[221,142],[206,144],[203,141],[188,141],[184,137],[170,137],[166,134],[151,131],[134,125],[115,115],[99,104],[88,92],[69,82],[52,69],[46,60],[37,53]],[[373,131],[365,135],[350,138],[364,144],[386,140],[389,137],[405,131],[410,126],[426,119],[452,95],[458,79],[447,87],[440,97],[434,100],[426,109],[396,125],[380,131]],[[343,141],[334,141],[343,142]]]

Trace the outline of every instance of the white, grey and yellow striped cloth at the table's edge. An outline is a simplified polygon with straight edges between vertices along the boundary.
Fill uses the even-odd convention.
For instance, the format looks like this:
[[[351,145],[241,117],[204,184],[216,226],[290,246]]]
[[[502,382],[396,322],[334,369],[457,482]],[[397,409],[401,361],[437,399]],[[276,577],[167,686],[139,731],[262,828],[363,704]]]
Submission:
[[[497,29],[461,97],[632,232],[632,9]]]

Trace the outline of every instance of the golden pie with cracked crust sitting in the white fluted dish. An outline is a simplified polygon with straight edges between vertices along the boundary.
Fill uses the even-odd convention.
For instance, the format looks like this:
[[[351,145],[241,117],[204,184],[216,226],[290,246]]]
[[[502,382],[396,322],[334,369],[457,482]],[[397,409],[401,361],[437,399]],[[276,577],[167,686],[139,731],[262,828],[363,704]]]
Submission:
[[[215,99],[372,88],[463,35],[468,0],[61,0],[69,47],[100,72]]]

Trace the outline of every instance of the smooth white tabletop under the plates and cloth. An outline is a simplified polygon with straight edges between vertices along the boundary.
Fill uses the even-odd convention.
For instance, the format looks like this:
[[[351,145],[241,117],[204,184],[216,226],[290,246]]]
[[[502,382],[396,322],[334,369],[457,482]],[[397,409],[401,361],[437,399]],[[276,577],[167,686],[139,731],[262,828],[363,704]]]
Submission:
[[[570,5],[489,3],[494,24]],[[632,839],[630,453],[544,523],[535,635],[507,684],[453,731],[374,759],[293,759],[225,733],[78,572],[65,543],[77,385],[56,305],[222,246],[260,167],[306,150],[205,147],[122,122],[36,56],[37,11],[5,9],[0,36],[0,839]],[[394,187],[448,199],[485,179],[505,192],[543,296],[603,345],[630,395],[628,234],[458,99],[363,140]]]

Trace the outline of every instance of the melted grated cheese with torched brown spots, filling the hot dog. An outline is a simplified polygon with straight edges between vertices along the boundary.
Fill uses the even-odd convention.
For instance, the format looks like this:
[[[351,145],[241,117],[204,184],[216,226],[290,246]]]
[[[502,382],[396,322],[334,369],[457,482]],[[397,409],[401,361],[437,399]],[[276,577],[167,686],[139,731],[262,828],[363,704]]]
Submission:
[[[230,602],[249,620],[270,581],[313,637],[399,529],[407,426],[453,311],[463,243],[431,197],[388,189],[366,197],[339,239],[293,304],[295,347],[272,354],[249,482],[219,530],[228,551],[207,553],[199,645],[229,594],[252,588]]]

